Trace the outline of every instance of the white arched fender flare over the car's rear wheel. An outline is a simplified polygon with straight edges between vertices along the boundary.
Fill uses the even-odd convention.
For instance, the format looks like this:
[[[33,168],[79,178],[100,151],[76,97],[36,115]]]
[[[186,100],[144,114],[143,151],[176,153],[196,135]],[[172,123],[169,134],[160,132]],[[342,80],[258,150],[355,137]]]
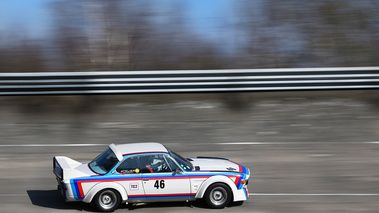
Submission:
[[[92,199],[96,196],[96,194],[103,189],[117,190],[121,195],[122,202],[128,200],[128,194],[126,193],[125,188],[121,184],[115,182],[103,182],[98,183],[94,187],[92,187],[84,197],[83,202],[90,203]]]

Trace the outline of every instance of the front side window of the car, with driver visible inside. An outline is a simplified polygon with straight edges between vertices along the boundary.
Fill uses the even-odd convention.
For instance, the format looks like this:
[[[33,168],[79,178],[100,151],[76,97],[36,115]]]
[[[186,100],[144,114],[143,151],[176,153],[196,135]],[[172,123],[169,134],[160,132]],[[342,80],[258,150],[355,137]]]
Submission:
[[[171,172],[163,155],[140,156],[140,168],[142,173]]]

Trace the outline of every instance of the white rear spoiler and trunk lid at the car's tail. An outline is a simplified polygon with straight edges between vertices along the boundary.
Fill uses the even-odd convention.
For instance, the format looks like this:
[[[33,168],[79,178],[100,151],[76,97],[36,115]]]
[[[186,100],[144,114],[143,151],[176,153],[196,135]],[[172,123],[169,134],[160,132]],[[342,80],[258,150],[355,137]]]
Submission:
[[[60,179],[72,179],[97,175],[88,167],[88,163],[80,163],[68,157],[54,157],[54,173]]]

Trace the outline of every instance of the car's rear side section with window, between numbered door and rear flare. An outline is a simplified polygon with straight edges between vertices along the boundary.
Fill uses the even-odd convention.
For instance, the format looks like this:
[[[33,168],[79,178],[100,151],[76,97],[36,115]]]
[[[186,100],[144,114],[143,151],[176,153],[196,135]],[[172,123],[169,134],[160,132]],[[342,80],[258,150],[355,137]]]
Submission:
[[[142,175],[139,173],[138,156],[125,158],[116,168],[118,182],[128,193],[128,200],[143,200],[145,192],[142,185]]]

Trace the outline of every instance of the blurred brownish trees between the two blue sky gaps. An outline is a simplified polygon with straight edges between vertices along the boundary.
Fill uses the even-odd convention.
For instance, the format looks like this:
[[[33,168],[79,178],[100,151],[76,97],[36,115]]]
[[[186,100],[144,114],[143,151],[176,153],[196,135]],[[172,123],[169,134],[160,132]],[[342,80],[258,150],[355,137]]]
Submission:
[[[165,5],[162,5],[165,4]],[[72,71],[216,69],[216,48],[185,29],[183,7],[132,0],[65,0],[56,11],[56,49]],[[221,62],[221,63],[220,63]],[[63,64],[63,65],[64,65]]]

